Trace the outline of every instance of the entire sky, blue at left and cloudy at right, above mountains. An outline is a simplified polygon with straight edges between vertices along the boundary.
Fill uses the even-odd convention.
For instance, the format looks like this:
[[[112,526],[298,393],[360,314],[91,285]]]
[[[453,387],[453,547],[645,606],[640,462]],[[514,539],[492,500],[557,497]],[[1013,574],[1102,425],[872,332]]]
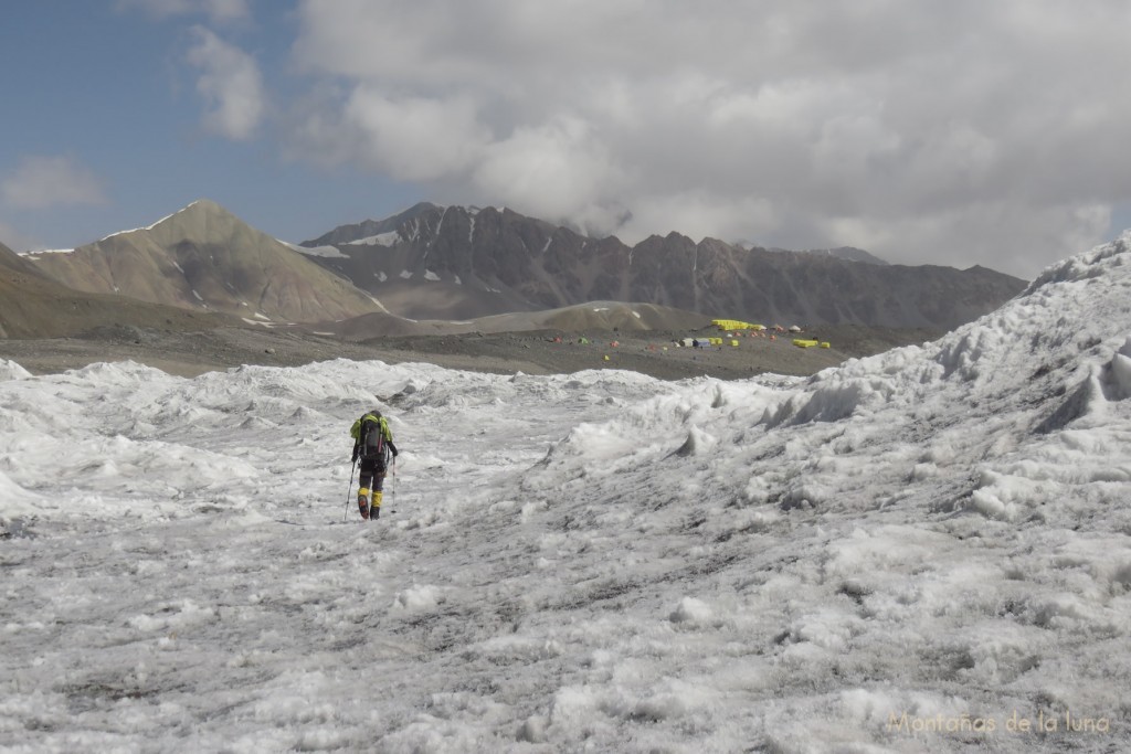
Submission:
[[[1035,276],[1131,226],[1117,0],[14,0],[0,241],[416,201]]]

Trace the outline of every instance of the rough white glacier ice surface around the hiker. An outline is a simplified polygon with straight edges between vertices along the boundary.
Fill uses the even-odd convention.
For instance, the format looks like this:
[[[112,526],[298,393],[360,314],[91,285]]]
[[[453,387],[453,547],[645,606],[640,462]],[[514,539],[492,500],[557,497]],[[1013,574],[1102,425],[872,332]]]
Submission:
[[[0,362],[0,747],[1120,751],[1129,245],[810,379]]]

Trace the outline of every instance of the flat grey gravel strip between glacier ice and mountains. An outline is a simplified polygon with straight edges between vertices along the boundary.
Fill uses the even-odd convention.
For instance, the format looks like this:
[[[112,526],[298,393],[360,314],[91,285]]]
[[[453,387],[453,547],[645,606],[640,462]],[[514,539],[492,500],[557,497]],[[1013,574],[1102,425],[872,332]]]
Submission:
[[[713,376],[736,380],[772,372],[808,375],[848,358],[932,340],[942,332],[828,326],[801,336],[771,339],[714,328],[667,331],[515,331],[375,337],[343,340],[300,329],[224,327],[174,331],[133,326],[97,328],[81,336],[0,339],[0,358],[33,374],[59,373],[96,362],[133,361],[170,374],[196,376],[242,364],[297,366],[334,358],[425,362],[449,369],[501,374],[567,374],[589,369],[621,369],[663,380]],[[685,337],[724,336],[723,346],[677,347]],[[829,341],[829,348],[801,348],[794,337]],[[584,341],[582,341],[584,340]],[[734,340],[737,346],[729,345]]]

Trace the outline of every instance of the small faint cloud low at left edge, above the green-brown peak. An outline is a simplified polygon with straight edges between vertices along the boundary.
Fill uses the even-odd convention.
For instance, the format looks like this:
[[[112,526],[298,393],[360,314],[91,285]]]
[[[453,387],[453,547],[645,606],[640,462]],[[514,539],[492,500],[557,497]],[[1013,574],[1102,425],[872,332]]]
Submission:
[[[102,181],[75,159],[59,155],[24,157],[16,171],[0,182],[0,198],[12,209],[106,202]]]

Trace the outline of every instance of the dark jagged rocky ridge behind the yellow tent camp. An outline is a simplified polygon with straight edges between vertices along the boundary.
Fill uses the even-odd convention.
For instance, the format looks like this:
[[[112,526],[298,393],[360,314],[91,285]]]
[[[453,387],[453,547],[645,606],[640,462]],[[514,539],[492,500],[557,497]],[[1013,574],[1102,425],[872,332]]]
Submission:
[[[620,301],[762,323],[949,330],[1026,285],[979,267],[884,265],[860,250],[743,249],[677,233],[628,246],[615,236],[589,239],[493,208],[417,205],[303,245],[327,242],[344,257],[312,261],[371,292],[390,312],[414,319]]]

